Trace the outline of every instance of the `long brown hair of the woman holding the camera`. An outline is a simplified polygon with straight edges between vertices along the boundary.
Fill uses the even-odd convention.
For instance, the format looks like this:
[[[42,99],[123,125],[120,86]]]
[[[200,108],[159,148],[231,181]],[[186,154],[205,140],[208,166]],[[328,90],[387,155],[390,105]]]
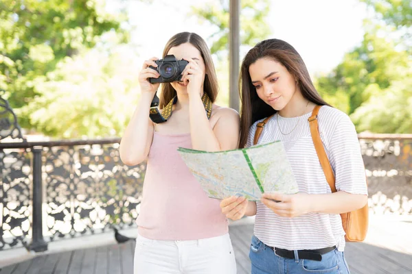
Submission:
[[[165,58],[165,55],[168,54],[172,47],[177,47],[186,42],[189,42],[196,47],[196,49],[201,52],[203,60],[205,60],[206,75],[205,82],[203,84],[203,91],[209,95],[211,102],[214,103],[214,101],[216,101],[216,97],[218,96],[218,78],[214,69],[213,60],[211,59],[209,47],[207,47],[205,40],[203,40],[201,36],[195,34],[194,32],[181,32],[179,34],[175,34],[165,45],[165,49],[163,50],[163,58]],[[159,107],[164,108],[165,105],[167,105],[175,96],[176,90],[174,90],[170,83],[161,84]]]

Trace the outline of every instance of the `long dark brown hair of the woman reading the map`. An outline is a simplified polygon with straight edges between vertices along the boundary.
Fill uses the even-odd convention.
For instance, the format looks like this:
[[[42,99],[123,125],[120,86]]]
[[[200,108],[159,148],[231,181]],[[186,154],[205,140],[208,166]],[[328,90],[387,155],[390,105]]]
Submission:
[[[317,105],[328,105],[314,88],[304,60],[302,60],[296,49],[283,40],[263,40],[244,56],[240,68],[239,86],[240,98],[242,100],[242,110],[240,112],[240,148],[246,145],[249,129],[255,121],[271,116],[277,112],[258,97],[258,93],[252,84],[249,66],[260,58],[271,58],[285,66],[289,73],[298,80],[299,88],[305,99]]]

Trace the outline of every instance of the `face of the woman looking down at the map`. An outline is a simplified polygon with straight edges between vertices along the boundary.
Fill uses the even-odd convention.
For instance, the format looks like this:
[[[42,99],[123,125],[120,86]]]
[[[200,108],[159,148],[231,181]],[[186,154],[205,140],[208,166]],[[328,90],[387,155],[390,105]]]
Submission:
[[[295,77],[280,63],[260,58],[249,66],[253,86],[260,99],[274,110],[282,110],[297,90]]]

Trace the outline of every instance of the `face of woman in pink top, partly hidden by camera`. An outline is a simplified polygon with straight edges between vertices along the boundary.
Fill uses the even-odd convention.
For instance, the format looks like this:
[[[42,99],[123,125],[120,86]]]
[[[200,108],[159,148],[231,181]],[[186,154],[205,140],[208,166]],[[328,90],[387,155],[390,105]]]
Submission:
[[[203,80],[202,82],[205,82],[205,71],[206,71],[206,66],[205,66],[205,61],[202,58],[201,51],[196,49],[194,45],[190,44],[189,42],[186,42],[184,44],[181,44],[177,47],[172,47],[168,51],[168,55],[174,55],[176,57],[176,60],[182,60],[182,59],[189,59],[192,58],[194,62],[196,62],[200,67],[203,72]],[[183,84],[183,82],[172,82],[170,83],[174,90],[179,93],[187,94],[187,83]],[[203,88],[203,85],[202,85]]]

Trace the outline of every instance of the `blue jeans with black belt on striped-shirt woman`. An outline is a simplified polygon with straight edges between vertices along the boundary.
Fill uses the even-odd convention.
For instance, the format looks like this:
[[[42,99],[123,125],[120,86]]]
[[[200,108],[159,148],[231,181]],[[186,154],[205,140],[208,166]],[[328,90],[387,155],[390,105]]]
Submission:
[[[295,253],[297,254],[297,253]],[[302,260],[282,258],[253,235],[249,258],[252,262],[252,274],[349,274],[349,268],[343,252],[334,249],[322,255],[322,260]]]

